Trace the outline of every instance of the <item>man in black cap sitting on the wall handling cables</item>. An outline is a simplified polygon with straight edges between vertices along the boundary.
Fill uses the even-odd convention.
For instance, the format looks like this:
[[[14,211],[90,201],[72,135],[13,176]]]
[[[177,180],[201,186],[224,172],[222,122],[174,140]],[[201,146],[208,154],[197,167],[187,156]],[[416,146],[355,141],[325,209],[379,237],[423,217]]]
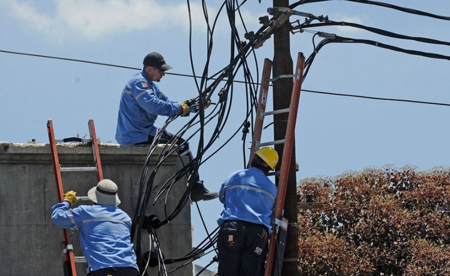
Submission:
[[[177,103],[169,100],[155,82],[159,82],[164,72],[172,67],[166,63],[161,54],[152,52],[144,58],[144,68],[131,77],[122,90],[119,115],[117,118],[116,140],[120,145],[151,145],[158,131],[154,126],[158,115],[189,116],[190,112],[198,111],[190,104],[190,100]],[[211,101],[205,103],[205,109]],[[198,107],[198,106],[197,106]],[[173,137],[170,132],[162,133],[160,144],[165,144]],[[193,159],[189,143],[178,138],[177,143],[183,144],[178,148],[180,155],[188,155]],[[210,192],[203,186],[198,174],[194,181],[191,199],[193,201],[215,199],[216,192]]]

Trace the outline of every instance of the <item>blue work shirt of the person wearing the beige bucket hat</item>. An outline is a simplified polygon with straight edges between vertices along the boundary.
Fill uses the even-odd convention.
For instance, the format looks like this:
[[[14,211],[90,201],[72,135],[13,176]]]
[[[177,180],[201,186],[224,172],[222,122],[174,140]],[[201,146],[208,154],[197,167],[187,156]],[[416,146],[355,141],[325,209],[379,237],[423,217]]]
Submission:
[[[136,254],[130,238],[131,218],[111,205],[55,204],[52,222],[61,228],[78,229],[87,273],[106,267],[135,267]],[[138,269],[139,270],[139,269]]]

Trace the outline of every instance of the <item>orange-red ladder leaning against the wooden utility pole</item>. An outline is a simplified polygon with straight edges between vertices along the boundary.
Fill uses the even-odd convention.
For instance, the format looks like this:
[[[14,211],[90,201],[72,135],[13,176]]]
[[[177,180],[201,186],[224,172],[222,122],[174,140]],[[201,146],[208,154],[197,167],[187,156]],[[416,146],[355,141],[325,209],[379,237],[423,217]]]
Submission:
[[[294,75],[281,75],[270,79],[270,71],[272,62],[269,59],[264,60],[264,68],[262,72],[261,88],[259,93],[257,116],[255,127],[253,131],[252,148],[250,152],[250,159],[252,160],[255,152],[267,145],[284,144],[283,157],[281,158],[281,169],[279,172],[278,193],[275,201],[273,232],[270,236],[269,252],[267,254],[266,272],[265,276],[280,276],[284,258],[284,247],[286,244],[286,235],[288,230],[288,220],[283,217],[284,198],[286,195],[286,188],[288,184],[289,168],[291,163],[291,156],[295,135],[295,123],[297,120],[298,103],[300,100],[300,90],[302,88],[303,70],[305,68],[305,57],[302,53],[298,53],[297,67]],[[292,89],[291,103],[287,109],[279,109],[275,111],[266,112],[267,90],[269,89],[269,81],[276,81],[280,77],[294,77],[294,85]],[[267,143],[261,143],[261,132],[266,115],[289,113],[288,123],[286,129],[286,136],[283,140],[277,140]],[[251,162],[251,161],[250,161]],[[250,162],[248,167],[250,167]],[[275,254],[277,260],[275,261]]]

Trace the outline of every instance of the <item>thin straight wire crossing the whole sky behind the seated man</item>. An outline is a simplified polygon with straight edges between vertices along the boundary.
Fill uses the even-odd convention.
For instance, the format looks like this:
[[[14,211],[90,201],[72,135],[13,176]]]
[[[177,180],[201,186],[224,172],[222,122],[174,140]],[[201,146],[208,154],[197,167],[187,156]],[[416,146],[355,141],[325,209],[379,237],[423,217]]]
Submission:
[[[9,54],[21,54],[21,55],[27,55],[27,56],[36,56],[36,57],[49,58],[49,59],[61,59],[61,60],[68,60],[68,61],[76,61],[76,62],[82,62],[82,63],[90,63],[90,64],[97,64],[97,65],[118,67],[118,68],[125,68],[125,69],[140,70],[140,68],[135,68],[135,67],[111,64],[111,63],[101,63],[101,62],[95,62],[95,61],[89,61],[89,60],[83,60],[83,59],[69,59],[69,58],[55,57],[55,56],[49,56],[49,55],[29,54],[29,53],[15,52],[15,51],[7,51],[7,50],[0,50],[0,52],[9,53]],[[166,74],[168,74],[168,75],[175,75],[175,76],[181,76],[181,77],[202,78],[202,77],[199,77],[199,76],[193,76],[193,75],[189,75],[189,74],[168,73],[168,72],[166,72]],[[211,79],[215,80],[215,78],[211,78]],[[240,83],[246,83],[245,81],[236,81],[236,80],[233,80],[233,81],[234,82],[240,82]],[[250,83],[250,84],[257,84],[257,83]],[[307,90],[307,89],[302,89],[302,91],[309,92],[309,93],[324,94],[324,95],[345,96],[345,97],[353,97],[353,98],[365,98],[365,99],[371,99],[371,100],[387,100],[387,101],[400,101],[400,102],[408,102],[408,103],[416,103],[416,104],[432,104],[432,105],[450,106],[450,104],[439,103],[439,102],[426,102],[426,101],[404,100],[404,99],[390,99],[390,98],[380,98],[380,97],[362,96],[362,95],[354,95],[354,94],[343,94],[343,93],[317,91],[317,90]]]

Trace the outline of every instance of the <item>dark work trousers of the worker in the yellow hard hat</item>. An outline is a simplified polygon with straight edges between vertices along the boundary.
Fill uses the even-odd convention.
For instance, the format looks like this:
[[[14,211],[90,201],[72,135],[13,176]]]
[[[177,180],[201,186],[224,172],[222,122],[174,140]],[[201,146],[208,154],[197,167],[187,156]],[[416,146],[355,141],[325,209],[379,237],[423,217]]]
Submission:
[[[267,227],[252,222],[222,223],[217,240],[218,276],[262,276],[267,254]]]

